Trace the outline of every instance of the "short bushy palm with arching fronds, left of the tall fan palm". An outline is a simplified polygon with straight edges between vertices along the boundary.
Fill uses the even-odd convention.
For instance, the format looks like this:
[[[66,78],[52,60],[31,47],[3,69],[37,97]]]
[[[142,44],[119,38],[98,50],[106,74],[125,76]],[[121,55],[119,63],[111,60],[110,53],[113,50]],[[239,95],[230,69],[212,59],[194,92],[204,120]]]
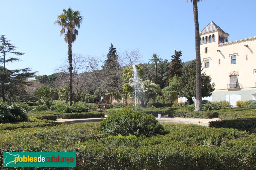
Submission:
[[[35,97],[40,99],[42,97],[50,99],[54,97],[56,94],[58,95],[57,89],[54,89],[49,85],[42,85],[41,87],[38,87],[34,92]]]

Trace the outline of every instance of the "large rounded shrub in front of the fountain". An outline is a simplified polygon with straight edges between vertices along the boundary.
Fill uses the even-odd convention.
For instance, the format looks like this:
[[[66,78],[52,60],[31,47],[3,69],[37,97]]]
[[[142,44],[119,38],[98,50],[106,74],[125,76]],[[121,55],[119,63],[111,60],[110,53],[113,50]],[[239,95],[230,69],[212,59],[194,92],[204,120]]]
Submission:
[[[100,123],[100,130],[110,135],[135,135],[150,137],[166,134],[167,131],[159,124],[155,116],[133,110],[123,110],[108,117]]]

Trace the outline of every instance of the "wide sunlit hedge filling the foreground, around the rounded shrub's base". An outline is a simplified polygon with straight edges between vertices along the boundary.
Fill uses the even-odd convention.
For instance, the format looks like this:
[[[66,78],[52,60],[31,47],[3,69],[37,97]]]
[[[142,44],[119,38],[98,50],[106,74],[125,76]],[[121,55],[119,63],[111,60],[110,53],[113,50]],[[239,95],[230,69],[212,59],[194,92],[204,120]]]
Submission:
[[[256,136],[247,132],[168,124],[167,135],[124,137],[105,136],[99,126],[3,130],[0,155],[8,151],[76,152],[74,169],[256,169]]]

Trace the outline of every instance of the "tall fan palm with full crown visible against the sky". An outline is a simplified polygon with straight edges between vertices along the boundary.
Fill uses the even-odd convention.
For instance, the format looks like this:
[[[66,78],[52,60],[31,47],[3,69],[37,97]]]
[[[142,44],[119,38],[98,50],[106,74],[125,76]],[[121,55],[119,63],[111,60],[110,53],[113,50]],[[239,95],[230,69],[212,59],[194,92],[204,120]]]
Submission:
[[[63,9],[63,13],[58,15],[58,20],[55,21],[59,26],[62,27],[60,34],[65,33],[64,40],[68,43],[68,61],[69,61],[69,106],[72,106],[72,43],[76,40],[76,35],[78,36],[78,31],[76,27],[80,28],[80,23],[83,17],[80,16],[80,11],[73,11],[72,8],[68,10]]]

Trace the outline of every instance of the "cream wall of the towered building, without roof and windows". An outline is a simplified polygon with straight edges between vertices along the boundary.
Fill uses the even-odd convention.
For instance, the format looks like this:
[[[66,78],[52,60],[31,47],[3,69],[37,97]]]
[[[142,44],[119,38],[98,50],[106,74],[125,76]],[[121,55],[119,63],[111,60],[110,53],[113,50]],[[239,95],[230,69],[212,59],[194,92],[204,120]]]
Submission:
[[[220,31],[216,31],[200,35],[200,37],[212,34],[216,36],[215,41],[200,45],[203,71],[206,71],[206,74],[211,76],[212,82],[215,83],[215,91],[227,91],[229,74],[234,71],[238,72],[238,83],[243,86],[241,89],[255,89],[256,37],[222,43],[218,41],[220,33],[223,34]],[[248,45],[248,47],[244,45]],[[208,48],[208,53],[205,53],[206,47]],[[220,52],[217,52],[217,50],[220,50]],[[236,55],[236,64],[231,64],[231,55]],[[246,55],[248,60],[246,60]],[[207,68],[205,68],[204,63],[206,59],[209,59],[209,67]]]

